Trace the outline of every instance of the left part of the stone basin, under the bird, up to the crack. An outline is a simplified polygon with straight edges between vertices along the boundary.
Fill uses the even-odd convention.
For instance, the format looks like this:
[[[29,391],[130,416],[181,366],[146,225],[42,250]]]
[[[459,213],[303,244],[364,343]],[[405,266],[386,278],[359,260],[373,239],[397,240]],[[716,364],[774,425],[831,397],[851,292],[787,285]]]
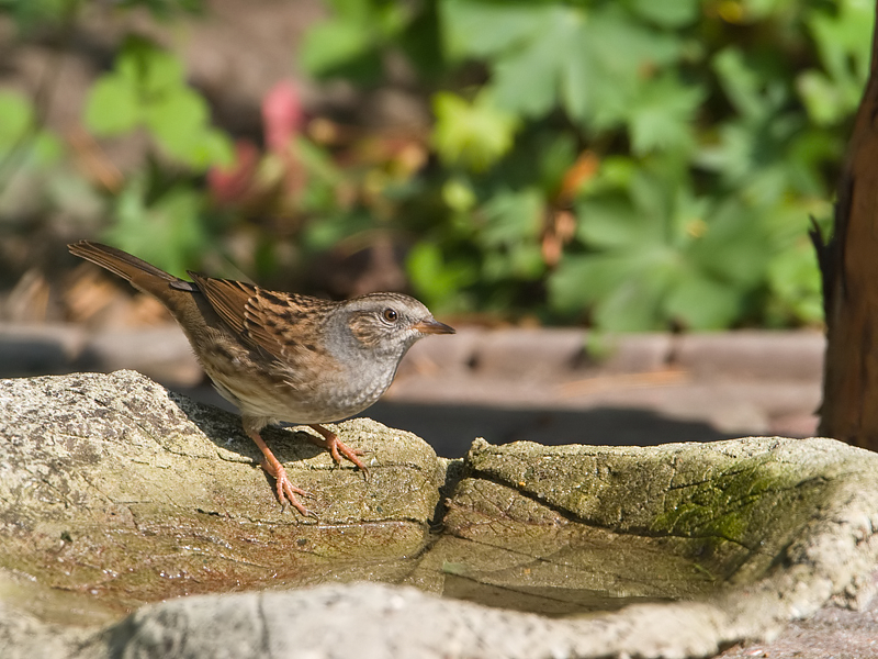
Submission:
[[[288,429],[266,440],[319,521],[282,510],[240,420],[133,371],[0,384],[0,567],[120,611],[199,592],[385,576],[419,551],[443,470],[429,446],[340,424],[370,478]],[[381,560],[363,574],[357,558]]]

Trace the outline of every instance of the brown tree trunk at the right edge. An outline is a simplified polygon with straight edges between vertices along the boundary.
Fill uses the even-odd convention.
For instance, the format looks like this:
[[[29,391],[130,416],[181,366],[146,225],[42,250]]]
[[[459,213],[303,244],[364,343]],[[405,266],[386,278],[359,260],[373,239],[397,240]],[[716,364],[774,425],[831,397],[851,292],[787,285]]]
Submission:
[[[835,227],[811,236],[823,276],[826,360],[820,433],[878,450],[878,57],[838,180]]]

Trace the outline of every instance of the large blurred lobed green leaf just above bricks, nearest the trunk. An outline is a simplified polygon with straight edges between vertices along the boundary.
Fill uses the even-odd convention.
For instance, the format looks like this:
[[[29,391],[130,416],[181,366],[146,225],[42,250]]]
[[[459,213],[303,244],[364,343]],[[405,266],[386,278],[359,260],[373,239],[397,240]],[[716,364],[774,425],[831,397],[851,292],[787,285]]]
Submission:
[[[564,315],[590,311],[604,331],[727,326],[764,279],[770,245],[757,214],[696,196],[685,169],[616,177],[577,203],[577,237],[594,253],[565,257],[549,281]]]

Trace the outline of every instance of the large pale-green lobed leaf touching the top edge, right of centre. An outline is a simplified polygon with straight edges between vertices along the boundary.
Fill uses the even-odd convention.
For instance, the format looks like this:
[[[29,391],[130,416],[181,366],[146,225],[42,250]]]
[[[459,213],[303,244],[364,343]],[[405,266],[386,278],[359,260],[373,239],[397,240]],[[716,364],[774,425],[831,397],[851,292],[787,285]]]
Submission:
[[[611,4],[510,8],[453,0],[443,16],[449,51],[459,58],[487,57],[497,105],[531,118],[562,105],[577,121],[611,126],[633,101],[643,70],[680,53],[676,40]]]

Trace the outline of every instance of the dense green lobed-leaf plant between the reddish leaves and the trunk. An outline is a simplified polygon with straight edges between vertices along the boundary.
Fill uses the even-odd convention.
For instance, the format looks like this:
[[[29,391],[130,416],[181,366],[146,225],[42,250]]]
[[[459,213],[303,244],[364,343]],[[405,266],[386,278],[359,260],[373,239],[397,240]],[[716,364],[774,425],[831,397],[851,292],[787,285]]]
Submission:
[[[869,7],[333,7],[313,75],[373,85],[395,52],[435,90],[437,166],[393,225],[435,306],[610,331],[820,322],[808,217],[831,213]],[[415,33],[440,36],[413,53]]]

